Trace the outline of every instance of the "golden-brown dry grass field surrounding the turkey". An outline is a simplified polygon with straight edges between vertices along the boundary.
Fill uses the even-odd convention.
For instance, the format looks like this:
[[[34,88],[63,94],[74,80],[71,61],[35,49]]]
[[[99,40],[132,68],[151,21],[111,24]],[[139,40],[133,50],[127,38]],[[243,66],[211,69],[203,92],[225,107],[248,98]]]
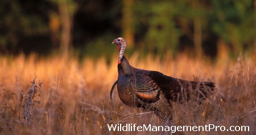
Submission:
[[[256,134],[256,58],[228,57],[214,62],[185,54],[163,59],[127,56],[134,67],[155,70],[185,80],[213,81],[210,98],[173,103],[173,120],[123,104],[115,89],[117,58],[98,60],[59,57],[0,56],[0,134],[171,134],[154,131],[109,131],[108,124],[249,126],[250,131],[179,132],[175,134]],[[107,63],[109,62],[110,63]],[[36,78],[35,78],[36,77]],[[41,84],[43,83],[43,84]],[[239,127],[237,127],[238,129]],[[243,129],[244,130],[244,129]]]

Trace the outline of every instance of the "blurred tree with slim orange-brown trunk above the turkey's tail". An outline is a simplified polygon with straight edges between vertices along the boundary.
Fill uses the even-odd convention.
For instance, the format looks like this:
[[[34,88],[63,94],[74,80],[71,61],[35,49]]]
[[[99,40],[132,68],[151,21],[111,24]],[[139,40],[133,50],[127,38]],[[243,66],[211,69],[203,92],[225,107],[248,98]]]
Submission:
[[[175,1],[177,8],[177,25],[182,31],[181,36],[187,37],[193,44],[195,56],[201,58],[203,56],[203,41],[205,39],[206,26],[208,23],[209,3],[205,0]],[[181,44],[181,42],[180,42]],[[179,45],[180,45],[179,44]]]

